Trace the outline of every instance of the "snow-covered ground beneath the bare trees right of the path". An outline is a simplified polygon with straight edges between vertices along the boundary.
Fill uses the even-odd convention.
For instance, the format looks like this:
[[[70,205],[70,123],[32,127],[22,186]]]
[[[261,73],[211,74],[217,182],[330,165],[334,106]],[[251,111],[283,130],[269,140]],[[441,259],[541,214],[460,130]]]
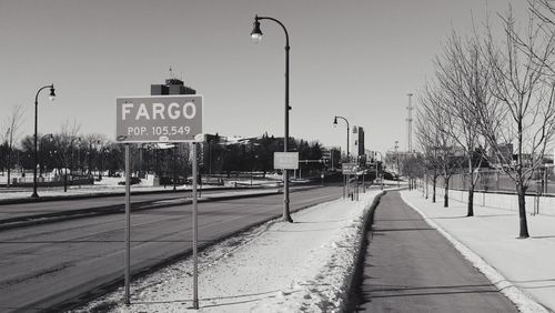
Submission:
[[[555,311],[554,216],[528,215],[531,238],[523,240],[514,211],[475,203],[475,216],[465,218],[466,203],[451,199],[443,208],[443,198],[432,203],[421,191],[401,194],[522,312],[547,312],[535,302]]]

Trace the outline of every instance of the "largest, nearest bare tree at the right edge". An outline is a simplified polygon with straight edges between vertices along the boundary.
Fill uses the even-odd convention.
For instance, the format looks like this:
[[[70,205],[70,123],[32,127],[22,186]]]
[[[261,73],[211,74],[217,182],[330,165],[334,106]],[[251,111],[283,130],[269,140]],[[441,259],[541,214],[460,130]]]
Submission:
[[[542,165],[555,133],[555,89],[549,60],[555,40],[531,14],[524,34],[511,9],[502,17],[504,40],[496,43],[487,28],[484,53],[492,70],[491,92],[496,101],[476,108],[476,120],[496,162],[515,182],[519,238],[528,238],[525,193]],[[506,153],[514,144],[516,160]]]

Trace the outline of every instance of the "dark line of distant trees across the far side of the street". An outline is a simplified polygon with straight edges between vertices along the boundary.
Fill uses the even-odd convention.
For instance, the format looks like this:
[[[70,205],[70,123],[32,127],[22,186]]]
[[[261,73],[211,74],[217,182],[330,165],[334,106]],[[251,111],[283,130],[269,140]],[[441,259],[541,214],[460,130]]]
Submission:
[[[38,134],[38,173],[56,175],[89,175],[101,179],[103,173],[115,175],[124,170],[124,145],[112,142],[103,134],[81,134],[77,123],[67,122],[57,133]],[[17,142],[9,137],[1,138],[0,170],[9,172],[18,169],[32,171],[34,165],[34,139],[26,135]],[[301,160],[322,160],[302,164],[305,176],[320,175],[331,168],[330,158],[324,158],[324,148],[317,141],[290,138],[290,151],[296,151]],[[283,138],[268,133],[259,138],[236,143],[224,140],[219,134],[208,135],[199,144],[199,169],[206,176],[231,176],[232,174],[258,172],[262,176],[273,172],[273,154],[283,151]],[[154,174],[165,180],[183,181],[191,175],[189,143],[176,144],[130,144],[131,171],[144,178]],[[340,164],[340,151],[332,149],[334,168]],[[329,155],[329,154],[327,154]],[[52,173],[53,170],[53,173]]]

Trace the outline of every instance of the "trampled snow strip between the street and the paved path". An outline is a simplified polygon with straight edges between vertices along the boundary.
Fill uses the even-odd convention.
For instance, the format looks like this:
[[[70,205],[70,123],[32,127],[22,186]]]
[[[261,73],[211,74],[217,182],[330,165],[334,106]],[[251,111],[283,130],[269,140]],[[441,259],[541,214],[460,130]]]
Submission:
[[[200,253],[199,311],[340,311],[377,193],[309,208],[292,214],[294,223],[271,221]],[[75,312],[192,311],[191,258],[133,282],[131,293],[130,306],[120,287]]]

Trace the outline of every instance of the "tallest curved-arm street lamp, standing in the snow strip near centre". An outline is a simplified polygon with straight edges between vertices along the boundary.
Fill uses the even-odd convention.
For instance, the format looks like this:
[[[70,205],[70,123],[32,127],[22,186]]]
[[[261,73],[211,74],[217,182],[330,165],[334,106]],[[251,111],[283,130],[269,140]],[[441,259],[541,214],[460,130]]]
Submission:
[[[262,31],[260,30],[260,21],[261,20],[271,20],[279,23],[283,31],[285,32],[285,137],[283,138],[283,151],[289,152],[289,110],[291,107],[289,105],[289,33],[285,26],[279,20],[270,17],[259,17],[254,16],[253,29],[251,32],[251,37],[254,42],[260,42],[262,40]],[[283,170],[283,220],[292,223],[293,219],[289,213],[289,170]]]

